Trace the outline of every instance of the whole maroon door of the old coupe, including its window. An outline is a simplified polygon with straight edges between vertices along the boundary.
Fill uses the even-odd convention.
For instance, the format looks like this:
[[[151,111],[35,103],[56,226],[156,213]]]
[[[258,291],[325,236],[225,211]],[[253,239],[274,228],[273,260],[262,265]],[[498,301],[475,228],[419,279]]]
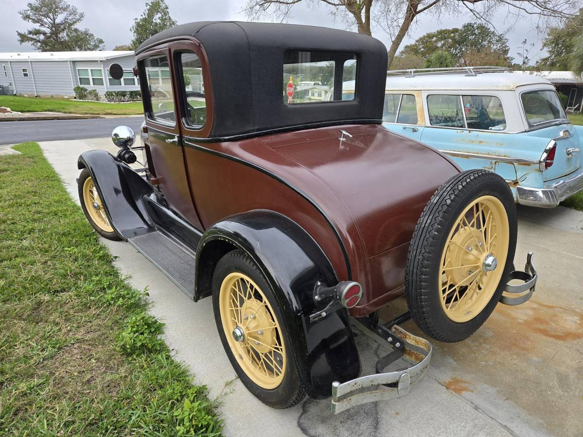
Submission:
[[[170,50],[147,52],[138,59],[138,67],[145,78],[142,94],[147,138],[160,190],[174,212],[200,228],[185,170]]]

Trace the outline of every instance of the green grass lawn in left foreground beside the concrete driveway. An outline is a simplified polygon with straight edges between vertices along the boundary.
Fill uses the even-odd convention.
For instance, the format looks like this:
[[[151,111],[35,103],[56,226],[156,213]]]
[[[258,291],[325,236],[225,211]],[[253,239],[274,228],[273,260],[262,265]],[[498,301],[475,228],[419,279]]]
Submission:
[[[37,143],[0,157],[0,435],[219,435]]]

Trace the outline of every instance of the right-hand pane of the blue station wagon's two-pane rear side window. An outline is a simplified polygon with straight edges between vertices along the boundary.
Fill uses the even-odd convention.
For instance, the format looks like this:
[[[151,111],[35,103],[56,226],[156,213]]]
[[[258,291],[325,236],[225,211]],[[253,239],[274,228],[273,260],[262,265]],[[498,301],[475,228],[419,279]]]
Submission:
[[[506,118],[502,103],[493,96],[462,96],[468,129],[504,131]]]

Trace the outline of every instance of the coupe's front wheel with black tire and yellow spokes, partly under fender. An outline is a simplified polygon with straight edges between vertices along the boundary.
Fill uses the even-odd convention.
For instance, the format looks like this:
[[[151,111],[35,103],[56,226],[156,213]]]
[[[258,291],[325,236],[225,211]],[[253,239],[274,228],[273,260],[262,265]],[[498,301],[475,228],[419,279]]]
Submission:
[[[79,182],[77,184],[79,191],[79,203],[83,209],[83,213],[87,221],[93,226],[93,229],[99,232],[101,237],[120,241],[121,238],[111,226],[107,212],[103,207],[103,203],[97,193],[93,178],[89,170],[83,168],[79,175]]]

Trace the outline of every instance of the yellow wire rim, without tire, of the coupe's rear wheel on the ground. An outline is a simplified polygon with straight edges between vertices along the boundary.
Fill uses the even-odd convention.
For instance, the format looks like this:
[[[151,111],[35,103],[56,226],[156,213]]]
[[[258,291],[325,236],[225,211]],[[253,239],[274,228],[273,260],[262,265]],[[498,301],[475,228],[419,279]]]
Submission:
[[[231,352],[259,387],[275,389],[286,372],[286,349],[273,308],[247,275],[227,275],[220,287],[219,311]]]

